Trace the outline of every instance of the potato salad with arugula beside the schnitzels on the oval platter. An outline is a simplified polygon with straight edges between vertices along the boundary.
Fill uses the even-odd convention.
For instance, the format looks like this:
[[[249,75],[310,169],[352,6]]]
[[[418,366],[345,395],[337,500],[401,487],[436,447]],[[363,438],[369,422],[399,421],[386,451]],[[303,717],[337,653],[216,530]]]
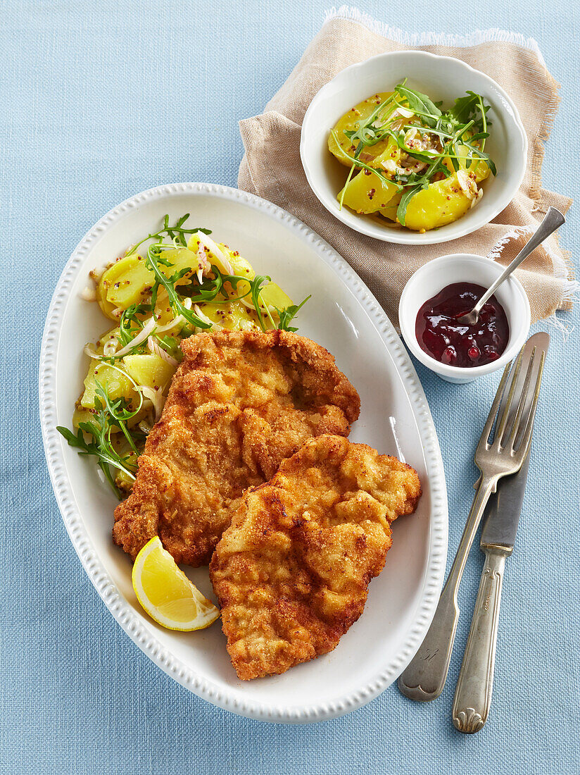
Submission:
[[[84,298],[95,301],[108,329],[88,343],[88,371],[73,415],[60,427],[81,455],[96,458],[121,498],[135,480],[137,458],[160,418],[182,354],[181,339],[219,329],[283,329],[300,305],[256,275],[237,250],[183,215],[147,235],[104,270],[91,272]],[[310,297],[308,297],[310,298]]]

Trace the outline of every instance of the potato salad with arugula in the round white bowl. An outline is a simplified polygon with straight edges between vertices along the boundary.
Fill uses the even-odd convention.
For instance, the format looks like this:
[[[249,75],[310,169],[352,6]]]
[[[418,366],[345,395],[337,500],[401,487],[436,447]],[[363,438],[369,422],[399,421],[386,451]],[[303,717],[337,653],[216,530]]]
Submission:
[[[348,167],[339,207],[424,233],[475,207],[482,181],[496,174],[485,151],[489,105],[468,91],[443,112],[441,103],[405,84],[345,113],[328,150]]]

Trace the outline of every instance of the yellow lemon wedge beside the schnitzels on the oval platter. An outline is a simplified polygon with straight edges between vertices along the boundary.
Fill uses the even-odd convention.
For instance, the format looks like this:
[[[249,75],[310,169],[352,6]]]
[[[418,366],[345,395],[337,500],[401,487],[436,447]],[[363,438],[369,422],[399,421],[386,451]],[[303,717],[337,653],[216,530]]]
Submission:
[[[146,543],[136,556],[132,582],[139,603],[167,629],[204,629],[219,616],[218,608],[204,598],[163,549],[159,536]]]

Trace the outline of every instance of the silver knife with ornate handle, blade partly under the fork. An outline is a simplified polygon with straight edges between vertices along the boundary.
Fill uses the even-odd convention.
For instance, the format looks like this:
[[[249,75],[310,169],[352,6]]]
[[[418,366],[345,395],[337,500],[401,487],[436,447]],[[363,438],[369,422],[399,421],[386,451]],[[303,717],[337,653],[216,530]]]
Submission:
[[[530,453],[517,474],[501,480],[489,499],[479,546],[486,556],[451,718],[459,732],[479,732],[492,699],[503,570],[516,540]]]

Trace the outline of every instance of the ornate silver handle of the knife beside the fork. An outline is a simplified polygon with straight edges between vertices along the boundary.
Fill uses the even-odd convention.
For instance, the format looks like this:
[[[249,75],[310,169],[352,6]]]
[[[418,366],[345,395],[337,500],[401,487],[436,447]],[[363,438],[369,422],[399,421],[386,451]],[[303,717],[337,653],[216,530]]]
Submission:
[[[492,701],[503,569],[510,554],[499,547],[487,548],[485,552],[486,561],[451,711],[455,728],[468,735],[482,729]]]

